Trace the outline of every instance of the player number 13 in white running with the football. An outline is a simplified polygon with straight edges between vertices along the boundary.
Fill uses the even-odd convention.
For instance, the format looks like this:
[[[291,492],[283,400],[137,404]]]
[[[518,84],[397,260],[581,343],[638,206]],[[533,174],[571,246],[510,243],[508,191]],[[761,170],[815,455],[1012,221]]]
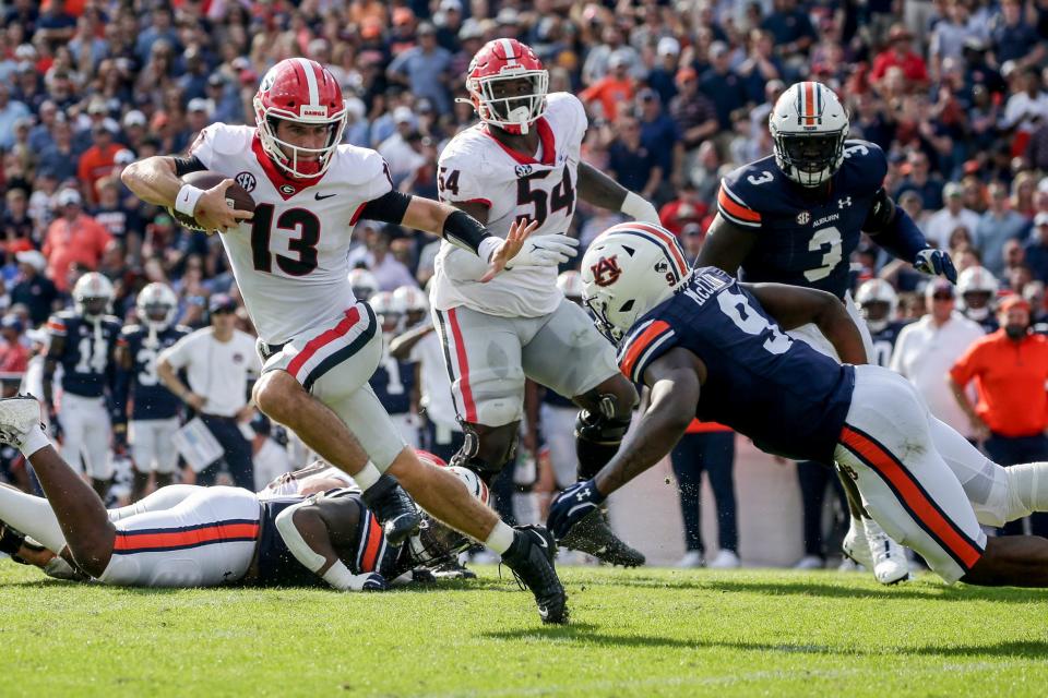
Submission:
[[[341,144],[342,91],[314,61],[294,58],[274,65],[253,104],[255,127],[212,124],[188,157],[147,158],[121,177],[144,201],[172,206],[202,229],[221,232],[259,333],[264,364],[255,404],[354,477],[392,543],[403,542],[419,524],[403,484],[436,518],[500,552],[532,589],[544,621],[567,621],[548,533],[534,527],[514,531],[456,478],[424,467],[368,386],[382,339],[374,313],[353,296],[347,251],[361,216],[453,240],[480,257],[485,280],[510,258],[519,266],[555,266],[574,250],[545,239],[528,240],[525,248],[534,225],[522,221],[493,237],[461,210],[393,191],[381,156]],[[206,191],[179,179],[205,169],[229,179]],[[253,214],[226,202],[234,180],[253,197]]]

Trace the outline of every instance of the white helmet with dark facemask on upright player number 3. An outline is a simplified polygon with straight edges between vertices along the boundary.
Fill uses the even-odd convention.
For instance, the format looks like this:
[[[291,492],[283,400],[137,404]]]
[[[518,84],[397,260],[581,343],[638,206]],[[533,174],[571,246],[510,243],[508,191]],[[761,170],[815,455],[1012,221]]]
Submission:
[[[819,186],[844,163],[848,112],[832,89],[817,82],[791,85],[767,117],[775,164],[801,186]]]

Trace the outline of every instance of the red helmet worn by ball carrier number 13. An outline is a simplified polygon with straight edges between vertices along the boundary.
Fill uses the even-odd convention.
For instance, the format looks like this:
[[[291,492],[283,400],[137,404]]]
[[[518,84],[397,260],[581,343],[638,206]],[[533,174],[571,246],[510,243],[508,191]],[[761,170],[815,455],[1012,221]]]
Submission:
[[[322,148],[303,148],[276,137],[276,121],[326,124],[327,142]],[[323,174],[342,142],[346,128],[346,103],[331,72],[306,58],[287,58],[262,77],[254,95],[254,122],[262,147],[270,158],[291,177],[310,179]],[[315,155],[315,160],[302,156]]]

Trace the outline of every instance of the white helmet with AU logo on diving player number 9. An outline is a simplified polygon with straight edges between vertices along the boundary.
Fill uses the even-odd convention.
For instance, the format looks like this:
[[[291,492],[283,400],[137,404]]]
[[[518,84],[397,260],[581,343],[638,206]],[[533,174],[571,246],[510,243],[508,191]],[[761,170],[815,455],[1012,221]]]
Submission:
[[[619,224],[597,236],[582,257],[582,302],[600,332],[618,342],[690,274],[674,233],[652,224]]]

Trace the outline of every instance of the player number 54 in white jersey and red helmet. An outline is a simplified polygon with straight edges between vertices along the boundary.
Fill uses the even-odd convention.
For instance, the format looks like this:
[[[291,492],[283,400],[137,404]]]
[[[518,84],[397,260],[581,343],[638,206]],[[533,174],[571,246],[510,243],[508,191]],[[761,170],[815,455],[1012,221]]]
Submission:
[[[587,121],[568,93],[547,94],[549,75],[515,39],[488,41],[466,77],[480,123],[458,133],[440,155],[441,200],[496,233],[532,220],[535,240],[562,238],[576,198],[638,220],[657,222],[654,206],[582,163]],[[525,376],[571,397],[579,477],[588,479],[618,449],[638,401],[615,365],[615,350],[585,311],[557,288],[557,269],[512,268],[480,284],[484,265],[441,243],[430,302],[466,441],[455,458],[491,480],[516,450]],[[581,528],[581,527],[580,527]],[[586,540],[575,529],[569,547],[606,562],[643,563],[643,555],[593,521]]]

